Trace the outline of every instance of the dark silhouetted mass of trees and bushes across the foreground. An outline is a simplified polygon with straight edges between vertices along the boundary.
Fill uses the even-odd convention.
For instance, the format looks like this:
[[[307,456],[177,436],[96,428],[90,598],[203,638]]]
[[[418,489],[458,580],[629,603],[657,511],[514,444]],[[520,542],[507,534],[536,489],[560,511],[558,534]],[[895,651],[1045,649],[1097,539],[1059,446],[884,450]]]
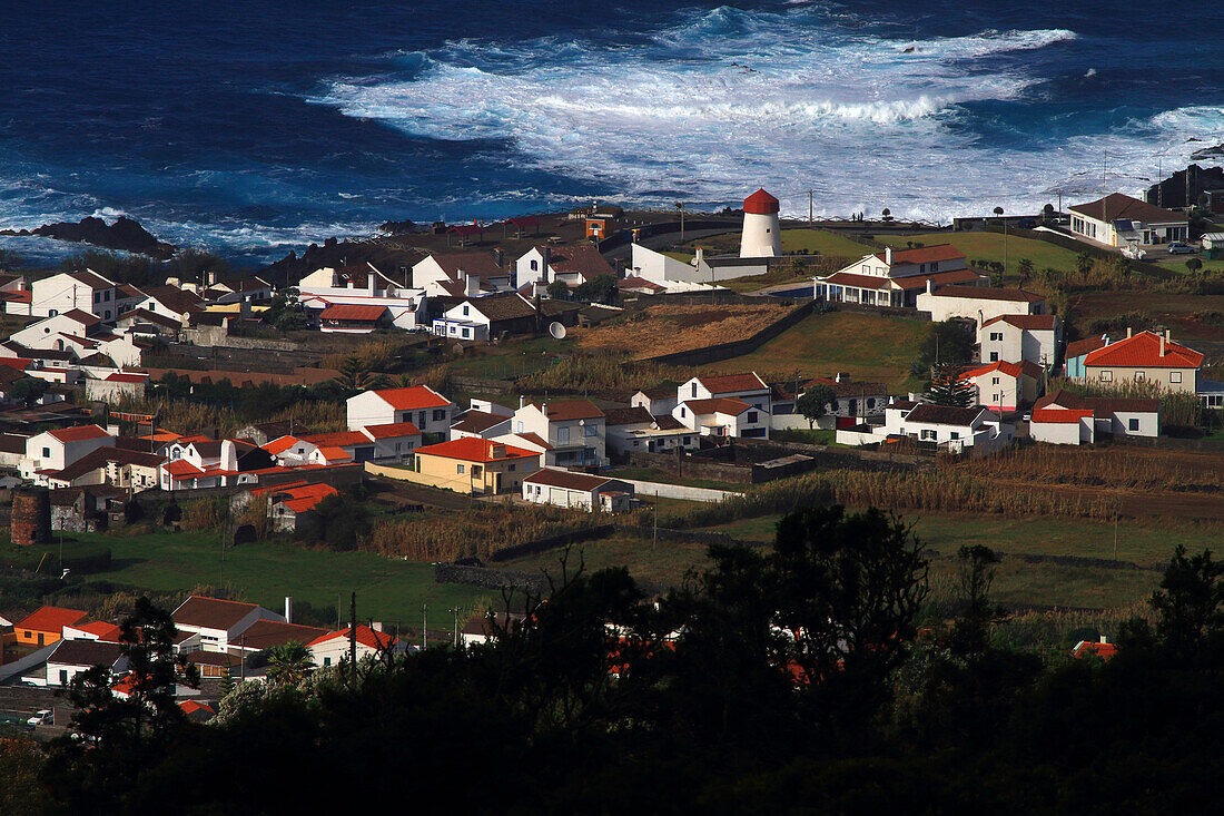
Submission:
[[[163,693],[147,602],[132,701],[72,689],[76,731],[0,760],[17,812],[1212,812],[1224,747],[1224,566],[1174,554],[1119,652],[1043,664],[991,646],[994,554],[958,555],[960,608],[916,625],[927,556],[840,507],[776,548],[711,550],[647,603],[622,569],[567,565],[466,651],[384,654],[246,684],[207,725]],[[506,621],[512,622],[506,622]],[[133,702],[135,701],[135,702]],[[143,702],[142,702],[143,701]]]

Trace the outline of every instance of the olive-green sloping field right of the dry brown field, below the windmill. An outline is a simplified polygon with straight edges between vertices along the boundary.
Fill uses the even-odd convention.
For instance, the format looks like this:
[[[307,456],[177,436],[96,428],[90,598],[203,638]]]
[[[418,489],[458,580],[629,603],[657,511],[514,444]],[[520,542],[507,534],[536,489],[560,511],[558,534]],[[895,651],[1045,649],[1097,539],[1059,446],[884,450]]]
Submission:
[[[909,364],[930,323],[858,312],[812,315],[752,354],[704,368],[705,371],[758,371],[761,375],[827,376],[846,371],[854,380],[883,382],[895,391],[914,386]]]

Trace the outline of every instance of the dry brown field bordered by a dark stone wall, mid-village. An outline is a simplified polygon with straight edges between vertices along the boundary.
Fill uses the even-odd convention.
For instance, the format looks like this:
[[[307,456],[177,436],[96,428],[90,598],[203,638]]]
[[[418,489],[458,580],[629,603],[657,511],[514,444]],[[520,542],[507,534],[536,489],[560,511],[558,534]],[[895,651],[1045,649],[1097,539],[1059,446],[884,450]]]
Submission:
[[[579,348],[592,353],[630,354],[645,359],[703,346],[752,337],[786,316],[782,304],[718,306],[650,306],[595,326],[572,332]]]

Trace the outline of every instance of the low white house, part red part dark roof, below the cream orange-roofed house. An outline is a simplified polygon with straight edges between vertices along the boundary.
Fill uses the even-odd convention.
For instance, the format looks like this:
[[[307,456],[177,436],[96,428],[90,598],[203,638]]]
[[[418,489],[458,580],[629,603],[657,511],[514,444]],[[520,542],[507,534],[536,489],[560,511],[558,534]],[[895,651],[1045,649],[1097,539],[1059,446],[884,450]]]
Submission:
[[[1102,434],[1155,437],[1160,435],[1160,401],[1058,391],[1034,403],[1028,434],[1054,445],[1092,445]]]

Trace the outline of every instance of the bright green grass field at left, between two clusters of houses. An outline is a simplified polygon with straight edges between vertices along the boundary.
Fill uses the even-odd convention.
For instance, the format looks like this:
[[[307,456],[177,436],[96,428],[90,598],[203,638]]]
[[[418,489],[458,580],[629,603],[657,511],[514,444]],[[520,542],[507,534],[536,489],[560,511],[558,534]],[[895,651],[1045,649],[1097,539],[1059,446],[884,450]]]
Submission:
[[[110,548],[111,569],[91,573],[89,580],[157,592],[187,592],[208,584],[229,587],[269,609],[279,609],[285,595],[293,595],[326,610],[335,606],[337,595],[343,595],[346,604],[349,593],[356,592],[362,618],[415,625],[424,603],[442,614],[491,597],[488,591],[476,587],[435,583],[428,564],[368,553],[330,553],[261,542],[226,548],[222,562],[217,533],[71,534],[69,538]],[[71,546],[71,543],[65,545],[66,554]],[[4,544],[0,553],[9,548]],[[48,551],[51,555],[48,564],[54,564],[56,550],[48,548]]]

